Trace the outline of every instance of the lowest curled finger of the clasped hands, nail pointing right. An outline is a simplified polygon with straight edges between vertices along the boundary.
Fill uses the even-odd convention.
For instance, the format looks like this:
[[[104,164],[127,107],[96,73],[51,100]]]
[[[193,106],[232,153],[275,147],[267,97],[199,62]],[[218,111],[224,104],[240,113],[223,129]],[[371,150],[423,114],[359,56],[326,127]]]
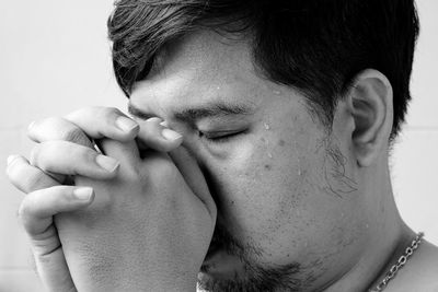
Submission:
[[[45,231],[51,225],[53,217],[60,212],[76,211],[89,206],[94,199],[90,187],[54,186],[35,190],[24,197],[19,217],[31,238],[44,241]]]

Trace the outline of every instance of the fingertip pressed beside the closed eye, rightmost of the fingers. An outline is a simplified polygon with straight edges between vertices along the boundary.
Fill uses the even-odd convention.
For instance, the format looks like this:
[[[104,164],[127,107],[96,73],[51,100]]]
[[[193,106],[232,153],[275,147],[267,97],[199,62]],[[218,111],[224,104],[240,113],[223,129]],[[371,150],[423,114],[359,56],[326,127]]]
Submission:
[[[141,122],[138,139],[140,147],[160,152],[169,152],[183,142],[181,133],[170,129],[165,121],[157,117]]]

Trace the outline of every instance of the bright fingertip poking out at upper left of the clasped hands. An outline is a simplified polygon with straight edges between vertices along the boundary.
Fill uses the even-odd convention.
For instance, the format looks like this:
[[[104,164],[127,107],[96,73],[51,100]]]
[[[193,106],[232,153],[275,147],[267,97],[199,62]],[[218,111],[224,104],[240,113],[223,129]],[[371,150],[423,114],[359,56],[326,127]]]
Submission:
[[[64,140],[93,148],[93,142],[77,125],[60,117],[50,117],[32,122],[27,128],[27,137],[35,142]]]

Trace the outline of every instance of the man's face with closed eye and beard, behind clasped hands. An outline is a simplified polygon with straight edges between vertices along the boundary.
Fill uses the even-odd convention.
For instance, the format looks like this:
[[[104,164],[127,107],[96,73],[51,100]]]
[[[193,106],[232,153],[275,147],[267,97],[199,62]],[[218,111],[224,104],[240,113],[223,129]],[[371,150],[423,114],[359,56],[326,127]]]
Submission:
[[[200,283],[311,289],[358,256],[367,222],[348,139],[304,96],[256,73],[246,42],[196,33],[171,44],[132,106],[169,121],[205,171],[218,221]]]

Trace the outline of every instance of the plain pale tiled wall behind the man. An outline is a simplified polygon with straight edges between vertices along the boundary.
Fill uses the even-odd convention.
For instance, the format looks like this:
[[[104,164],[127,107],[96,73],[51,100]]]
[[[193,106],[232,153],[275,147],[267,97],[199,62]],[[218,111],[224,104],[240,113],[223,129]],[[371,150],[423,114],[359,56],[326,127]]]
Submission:
[[[106,19],[113,1],[0,0],[0,161],[27,154],[27,125],[87,105],[125,106],[112,77]],[[422,21],[407,125],[391,168],[405,221],[438,244],[438,1],[417,0]],[[3,168],[4,170],[4,168]],[[0,174],[0,292],[41,291],[15,217],[23,195]]]

